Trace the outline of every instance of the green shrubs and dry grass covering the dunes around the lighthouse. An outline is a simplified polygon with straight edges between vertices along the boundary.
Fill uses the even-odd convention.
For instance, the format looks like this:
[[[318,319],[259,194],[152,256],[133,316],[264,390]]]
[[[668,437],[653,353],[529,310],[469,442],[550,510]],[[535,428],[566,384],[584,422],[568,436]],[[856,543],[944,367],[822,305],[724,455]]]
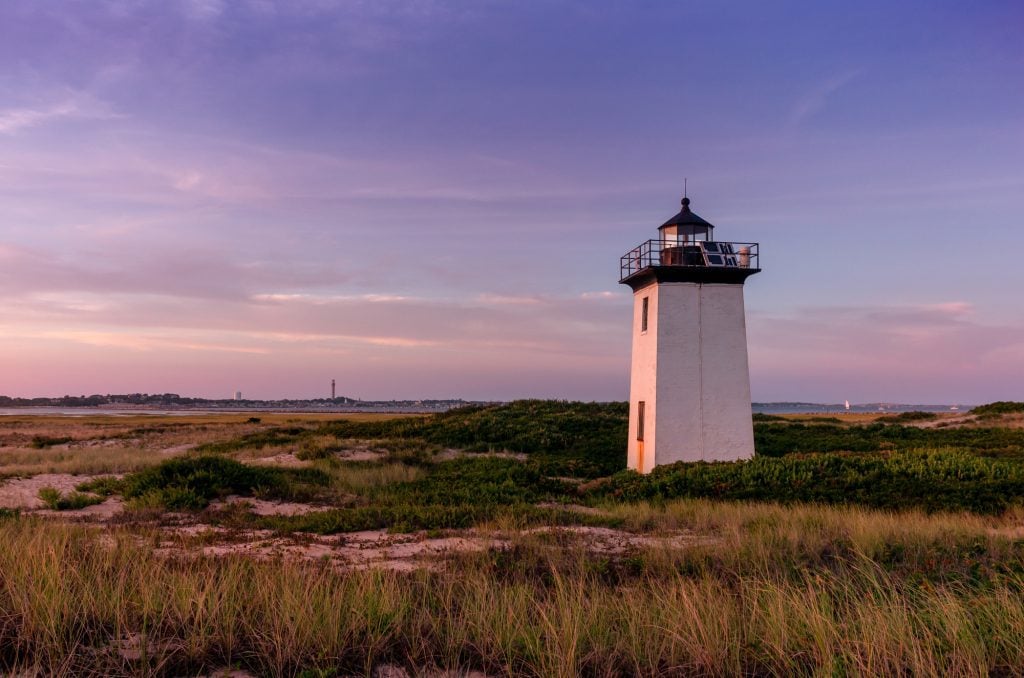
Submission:
[[[0,674],[1019,675],[1024,431],[981,419],[1011,405],[758,416],[754,460],[643,476],[623,404],[6,424],[0,475],[88,472],[39,498],[126,510],[0,508]],[[218,550],[360,531],[452,547]]]

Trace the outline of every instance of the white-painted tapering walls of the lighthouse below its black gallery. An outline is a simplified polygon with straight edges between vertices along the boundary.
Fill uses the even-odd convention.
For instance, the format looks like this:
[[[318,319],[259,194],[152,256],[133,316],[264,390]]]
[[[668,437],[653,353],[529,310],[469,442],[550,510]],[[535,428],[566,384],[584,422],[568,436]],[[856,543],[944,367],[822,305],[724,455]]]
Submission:
[[[639,400],[647,419],[642,466]],[[629,442],[629,466],[642,473],[656,464],[754,456],[741,285],[663,283],[634,294]]]

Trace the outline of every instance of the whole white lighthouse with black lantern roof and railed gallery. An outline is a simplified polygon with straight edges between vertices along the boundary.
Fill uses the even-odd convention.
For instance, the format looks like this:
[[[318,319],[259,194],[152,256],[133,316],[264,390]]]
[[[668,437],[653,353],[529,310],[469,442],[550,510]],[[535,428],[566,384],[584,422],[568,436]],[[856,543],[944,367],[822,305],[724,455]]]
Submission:
[[[726,243],[682,210],[622,258],[633,289],[629,467],[754,456],[743,282],[757,243]]]

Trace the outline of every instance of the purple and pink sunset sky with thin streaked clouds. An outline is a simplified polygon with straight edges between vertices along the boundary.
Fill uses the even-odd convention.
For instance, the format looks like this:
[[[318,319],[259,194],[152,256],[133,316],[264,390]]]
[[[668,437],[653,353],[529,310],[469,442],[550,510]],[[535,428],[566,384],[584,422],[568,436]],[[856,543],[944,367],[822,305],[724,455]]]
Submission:
[[[758,400],[1024,399],[1024,5],[4,0],[0,393],[625,399],[759,241]]]

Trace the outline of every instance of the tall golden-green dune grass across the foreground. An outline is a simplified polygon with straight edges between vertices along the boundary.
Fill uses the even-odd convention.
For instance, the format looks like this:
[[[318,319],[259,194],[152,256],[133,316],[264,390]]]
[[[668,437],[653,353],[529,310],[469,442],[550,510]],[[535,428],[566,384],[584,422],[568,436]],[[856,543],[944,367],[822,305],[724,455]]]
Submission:
[[[97,539],[86,527],[3,519],[0,671],[364,675],[396,664],[529,676],[988,675],[1024,667],[1021,554],[989,531],[991,519],[702,501],[633,505],[623,517],[646,514],[722,539],[595,557],[527,533],[505,549],[454,555],[441,570],[397,573],[168,559],[137,533]],[[959,560],[922,576],[894,550]]]

